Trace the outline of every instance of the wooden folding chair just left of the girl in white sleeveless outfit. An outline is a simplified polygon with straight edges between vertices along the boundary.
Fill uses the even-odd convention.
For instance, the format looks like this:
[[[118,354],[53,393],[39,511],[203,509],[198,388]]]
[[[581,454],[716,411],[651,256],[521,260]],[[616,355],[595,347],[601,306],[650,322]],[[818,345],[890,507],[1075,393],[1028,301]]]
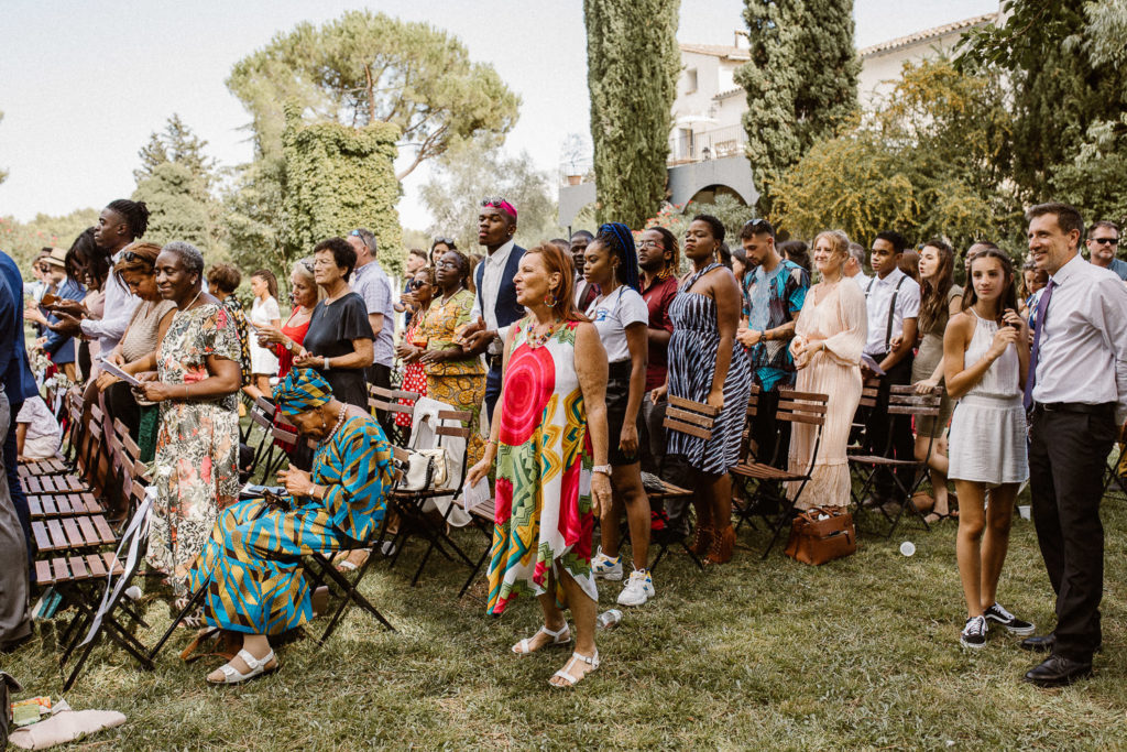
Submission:
[[[939,405],[942,401],[942,387],[935,387],[925,395],[917,395],[916,388],[912,384],[893,384],[889,387],[888,392],[889,421],[894,421],[897,415],[911,415],[916,418],[924,416],[938,417]],[[928,439],[928,452],[924,457],[931,457],[934,443],[934,437]],[[884,448],[882,454],[870,454],[866,453],[863,450],[848,453],[851,476],[861,483],[860,490],[855,489],[855,483],[852,484],[854,488],[851,489],[853,502],[857,504],[858,508],[858,514],[855,516],[861,516],[864,508],[863,499],[871,492],[878,475],[884,472],[891,477],[893,483],[899,492],[904,494],[904,502],[900,504],[900,508],[897,510],[895,516],[889,514],[882,505],[877,507],[885,516],[885,520],[889,523],[888,534],[886,538],[893,537],[893,533],[896,531],[896,527],[900,522],[900,517],[904,516],[905,510],[908,508],[912,510],[923,524],[924,530],[931,530],[931,525],[928,524],[924,513],[921,512],[912,501],[912,495],[915,494],[924,478],[928,477],[928,463],[925,461],[921,462],[914,457],[911,460],[898,460],[887,457],[888,454],[891,454],[891,448],[893,432],[889,431],[888,441]],[[907,484],[902,481],[899,474],[896,472],[898,469],[904,468],[908,468],[913,472],[912,480]]]

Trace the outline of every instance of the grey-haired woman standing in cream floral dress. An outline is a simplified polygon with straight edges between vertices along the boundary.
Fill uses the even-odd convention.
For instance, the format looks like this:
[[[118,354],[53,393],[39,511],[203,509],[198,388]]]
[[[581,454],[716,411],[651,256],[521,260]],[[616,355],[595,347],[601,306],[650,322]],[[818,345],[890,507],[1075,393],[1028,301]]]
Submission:
[[[144,398],[160,404],[149,563],[187,594],[188,568],[221,508],[239,495],[239,334],[228,310],[203,291],[204,257],[174,241],[157,257],[157,290],[178,309],[157,353],[157,372],[139,374]]]

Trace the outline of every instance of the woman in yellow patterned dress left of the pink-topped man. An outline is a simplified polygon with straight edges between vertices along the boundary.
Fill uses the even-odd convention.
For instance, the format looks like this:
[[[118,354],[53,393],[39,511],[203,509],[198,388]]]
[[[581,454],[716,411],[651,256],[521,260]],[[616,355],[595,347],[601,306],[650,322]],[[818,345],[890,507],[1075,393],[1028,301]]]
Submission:
[[[434,276],[442,295],[431,306],[419,331],[426,342],[426,352],[419,359],[426,366],[426,393],[455,410],[473,414],[465,458],[467,465],[473,466],[485,453],[478,419],[486,397],[486,368],[479,356],[467,354],[458,342],[461,329],[473,320],[470,259],[447,250],[438,259]]]

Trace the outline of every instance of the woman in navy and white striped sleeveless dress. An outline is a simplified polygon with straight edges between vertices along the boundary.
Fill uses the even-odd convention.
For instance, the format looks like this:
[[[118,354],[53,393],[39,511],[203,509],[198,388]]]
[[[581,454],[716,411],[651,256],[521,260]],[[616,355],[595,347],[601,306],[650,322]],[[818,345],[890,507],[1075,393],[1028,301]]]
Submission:
[[[736,342],[739,325],[739,284],[716,262],[724,242],[724,224],[708,214],[693,218],[685,231],[685,256],[693,269],[681,282],[669,304],[673,336],[665,387],[654,390],[655,404],[666,393],[707,402],[720,412],[708,441],[671,432],[668,452],[683,454],[694,478],[696,540],[693,551],[724,564],[731,558],[736,531],[731,528],[731,479],[739,461],[739,441],[747,414],[752,378],[747,355]]]

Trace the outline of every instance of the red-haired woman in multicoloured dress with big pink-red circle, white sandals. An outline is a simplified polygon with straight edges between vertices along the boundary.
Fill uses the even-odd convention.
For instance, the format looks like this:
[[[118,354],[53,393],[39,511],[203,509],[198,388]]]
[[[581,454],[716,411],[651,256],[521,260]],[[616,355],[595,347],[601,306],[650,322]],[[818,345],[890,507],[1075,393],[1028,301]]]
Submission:
[[[509,329],[502,393],[486,455],[468,474],[476,484],[497,460],[496,525],[487,611],[499,616],[517,593],[535,595],[544,625],[513,646],[527,655],[568,645],[562,608],[575,617],[576,649],[553,687],[571,687],[598,667],[591,534],[611,499],[606,462],[606,353],[595,327],[575,310],[571,262],[559,248],[526,251],[514,277],[531,311]],[[595,467],[583,470],[585,448]]]

